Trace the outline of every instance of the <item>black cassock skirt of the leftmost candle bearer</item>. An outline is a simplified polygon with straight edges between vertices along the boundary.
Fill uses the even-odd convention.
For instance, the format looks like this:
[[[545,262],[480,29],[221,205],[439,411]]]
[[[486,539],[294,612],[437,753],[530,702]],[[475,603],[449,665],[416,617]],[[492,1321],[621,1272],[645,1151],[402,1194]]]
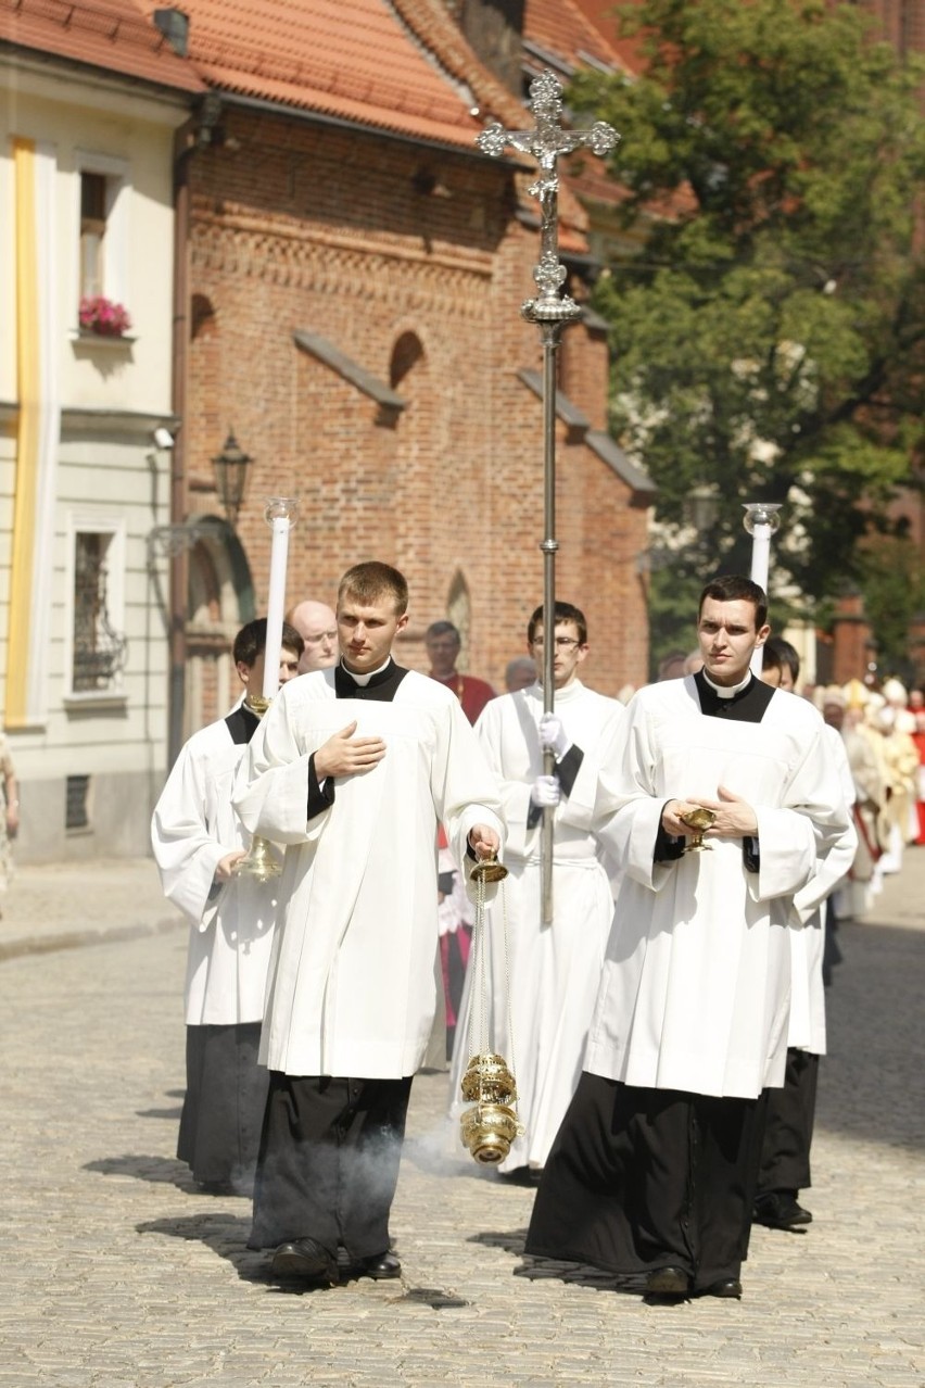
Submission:
[[[186,1097],[176,1155],[197,1181],[248,1190],[266,1105],[261,1023],[186,1029]]]

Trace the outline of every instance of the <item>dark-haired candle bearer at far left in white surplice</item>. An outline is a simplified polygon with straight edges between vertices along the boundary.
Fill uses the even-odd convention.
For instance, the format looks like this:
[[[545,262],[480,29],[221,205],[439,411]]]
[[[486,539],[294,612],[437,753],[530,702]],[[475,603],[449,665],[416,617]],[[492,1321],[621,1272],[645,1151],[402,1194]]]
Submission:
[[[266,618],[234,637],[245,693],[263,687]],[[291,680],[302,638],[283,625],[280,684]],[[186,969],[186,1098],[176,1155],[215,1192],[250,1188],[257,1165],[266,1072],[257,1063],[275,922],[269,883],[236,876],[250,836],[232,809],[232,784],[259,718],[247,698],[194,733],[176,759],[151,820],[164,894],[191,926]]]

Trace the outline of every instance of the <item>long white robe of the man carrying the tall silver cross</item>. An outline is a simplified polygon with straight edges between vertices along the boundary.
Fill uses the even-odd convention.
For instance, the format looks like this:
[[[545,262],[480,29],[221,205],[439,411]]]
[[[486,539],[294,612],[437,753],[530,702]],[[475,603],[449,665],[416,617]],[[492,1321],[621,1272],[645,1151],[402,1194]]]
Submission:
[[[582,781],[594,783],[600,751],[625,715],[623,704],[573,680],[556,690],[555,712],[569,743],[584,752]],[[581,1074],[613,917],[610,883],[589,816],[566,795],[553,819],[553,920],[544,923],[541,824],[527,824],[530,787],[544,772],[541,716],[542,687],[533,684],[492,700],[476,725],[502,787],[510,874],[485,912],[484,980],[478,959],[473,963],[470,956],[449,1092],[456,1115],[463,1106],[459,1081],[467,1060],[483,1049],[485,1015],[488,1048],[505,1055],[513,1070],[524,1127],[499,1166],[505,1173],[545,1165]],[[476,941],[476,952],[480,948]]]

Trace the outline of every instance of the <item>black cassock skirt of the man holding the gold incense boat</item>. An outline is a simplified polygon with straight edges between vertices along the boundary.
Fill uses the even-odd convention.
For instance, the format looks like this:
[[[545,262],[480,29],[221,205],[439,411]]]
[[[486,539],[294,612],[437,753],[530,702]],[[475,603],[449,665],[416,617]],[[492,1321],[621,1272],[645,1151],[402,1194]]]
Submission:
[[[582,1073],[539,1183],[527,1253],[620,1274],[680,1267],[693,1289],[738,1277],[763,1108],[764,1098]]]

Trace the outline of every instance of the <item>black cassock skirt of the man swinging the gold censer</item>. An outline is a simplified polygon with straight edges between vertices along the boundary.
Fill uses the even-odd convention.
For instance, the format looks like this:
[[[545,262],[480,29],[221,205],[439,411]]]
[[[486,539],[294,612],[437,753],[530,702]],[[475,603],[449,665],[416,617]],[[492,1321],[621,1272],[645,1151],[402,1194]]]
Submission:
[[[410,1076],[270,1072],[248,1248],[313,1238],[351,1259],[384,1253],[409,1098]]]

